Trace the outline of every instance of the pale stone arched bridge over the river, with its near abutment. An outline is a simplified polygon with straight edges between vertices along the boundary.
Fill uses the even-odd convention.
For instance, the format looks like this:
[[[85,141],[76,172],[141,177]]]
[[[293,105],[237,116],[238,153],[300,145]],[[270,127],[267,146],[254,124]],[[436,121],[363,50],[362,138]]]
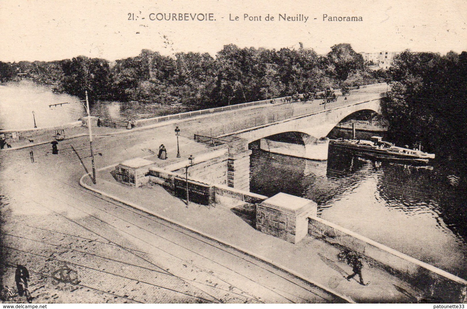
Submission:
[[[214,174],[217,175],[213,171],[220,171],[219,175],[212,179],[213,183],[224,183],[229,187],[249,191],[251,150],[248,149],[248,144],[260,140],[262,149],[279,152],[269,149],[266,137],[285,132],[301,134],[304,147],[286,144],[287,147],[298,146],[302,153],[297,155],[291,149],[279,153],[326,160],[329,143],[319,143],[319,138],[328,135],[348,115],[362,110],[379,112],[381,93],[386,89],[385,84],[368,85],[364,89],[352,92],[348,98],[339,96],[336,102],[329,104],[320,104],[321,100],[315,100],[306,104],[271,105],[263,108],[266,113],[263,112],[261,117],[244,117],[236,122],[227,122],[220,127],[198,131],[195,134],[195,140],[209,144],[228,144],[228,151],[224,149],[227,152],[222,154],[222,158],[217,158],[216,162],[211,160],[212,162],[205,163],[206,166],[199,165],[199,168],[193,169],[193,175],[200,178],[207,176],[212,178]],[[224,165],[227,171],[222,174]]]

